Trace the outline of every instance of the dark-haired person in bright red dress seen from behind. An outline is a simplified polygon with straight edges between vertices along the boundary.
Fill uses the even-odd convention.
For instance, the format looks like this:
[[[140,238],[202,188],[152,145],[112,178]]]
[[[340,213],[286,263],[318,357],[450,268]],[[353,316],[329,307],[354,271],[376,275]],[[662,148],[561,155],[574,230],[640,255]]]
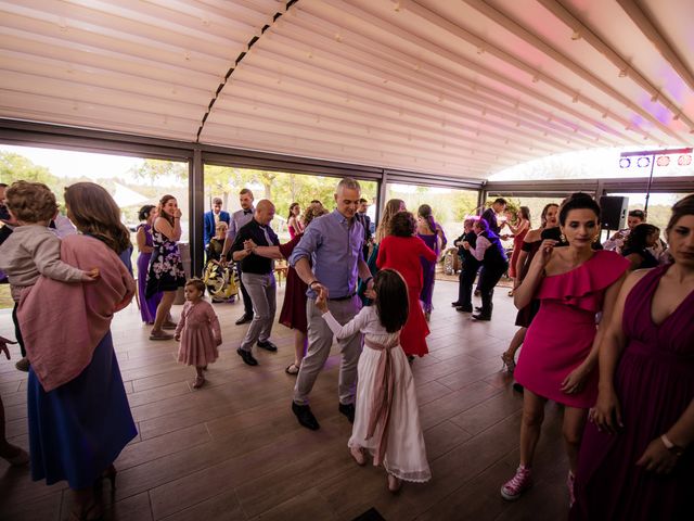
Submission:
[[[414,236],[415,221],[409,212],[398,212],[391,221],[393,234],[381,241],[378,246],[378,269],[391,268],[399,271],[408,284],[410,312],[408,321],[400,333],[400,345],[408,356],[424,356],[429,350],[426,336],[429,328],[424,319],[420,292],[422,291],[422,263],[436,260],[436,253],[422,239]]]

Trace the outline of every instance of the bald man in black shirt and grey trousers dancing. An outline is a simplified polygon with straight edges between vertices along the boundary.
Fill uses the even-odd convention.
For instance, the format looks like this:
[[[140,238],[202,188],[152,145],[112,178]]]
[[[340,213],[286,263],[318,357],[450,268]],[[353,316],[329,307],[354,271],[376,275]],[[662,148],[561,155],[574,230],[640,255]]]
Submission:
[[[274,282],[274,266],[270,258],[261,257],[254,250],[246,250],[244,242],[252,240],[258,246],[277,246],[280,244],[278,236],[270,228],[274,218],[274,204],[267,199],[258,202],[253,219],[242,226],[234,238],[231,252],[233,259],[241,263],[241,279],[246,287],[253,305],[253,320],[248,326],[236,353],[249,366],[257,366],[258,360],[253,356],[253,345],[275,352],[277,345],[270,341],[272,322],[277,310],[277,284]]]

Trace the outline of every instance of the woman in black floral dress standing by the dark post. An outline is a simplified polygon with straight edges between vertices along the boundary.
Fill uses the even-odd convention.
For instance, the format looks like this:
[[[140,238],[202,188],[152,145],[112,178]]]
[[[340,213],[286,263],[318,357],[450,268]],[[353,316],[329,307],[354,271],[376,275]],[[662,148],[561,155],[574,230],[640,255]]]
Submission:
[[[181,211],[174,195],[164,195],[157,208],[157,218],[152,228],[152,259],[147,275],[145,296],[150,298],[162,292],[162,302],[156,308],[154,327],[150,340],[170,340],[172,334],[165,329],[176,329],[176,323],[167,320],[176,291],[185,284],[185,272],[177,241],[181,238]]]

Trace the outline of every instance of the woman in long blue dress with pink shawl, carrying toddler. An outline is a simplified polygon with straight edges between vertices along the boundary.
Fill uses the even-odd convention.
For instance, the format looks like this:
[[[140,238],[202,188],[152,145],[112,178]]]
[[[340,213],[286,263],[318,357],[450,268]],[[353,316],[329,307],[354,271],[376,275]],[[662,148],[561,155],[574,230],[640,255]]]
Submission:
[[[94,485],[106,478],[114,486],[113,462],[137,435],[110,329],[136,285],[120,258],[130,251],[129,232],[108,192],[79,182],[65,189],[65,204],[81,233],[63,240],[61,258],[97,267],[100,279],[67,284],[41,277],[23,300],[20,321],[33,361],[31,478],[48,485],[67,480],[75,495],[70,519],[100,519]]]

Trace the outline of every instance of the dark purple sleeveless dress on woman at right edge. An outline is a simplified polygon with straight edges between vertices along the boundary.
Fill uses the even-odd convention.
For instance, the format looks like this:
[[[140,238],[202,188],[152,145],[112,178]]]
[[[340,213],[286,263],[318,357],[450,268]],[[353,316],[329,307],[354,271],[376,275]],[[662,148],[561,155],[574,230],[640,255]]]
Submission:
[[[615,374],[625,427],[608,434],[587,424],[573,521],[692,519],[694,447],[668,475],[635,465],[694,399],[694,291],[659,326],[651,318],[653,294],[668,268],[651,270],[625,303],[628,344]]]

